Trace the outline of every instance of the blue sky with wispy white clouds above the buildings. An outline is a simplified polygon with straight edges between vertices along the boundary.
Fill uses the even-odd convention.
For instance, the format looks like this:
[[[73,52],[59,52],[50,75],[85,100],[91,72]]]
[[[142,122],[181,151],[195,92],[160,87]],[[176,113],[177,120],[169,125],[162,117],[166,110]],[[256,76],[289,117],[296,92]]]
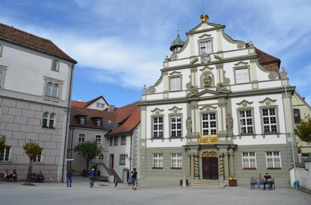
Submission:
[[[225,24],[234,40],[281,59],[290,85],[311,103],[311,1],[0,1],[0,22],[52,40],[78,61],[72,99],[103,95],[121,107],[160,77],[176,37],[200,23]]]

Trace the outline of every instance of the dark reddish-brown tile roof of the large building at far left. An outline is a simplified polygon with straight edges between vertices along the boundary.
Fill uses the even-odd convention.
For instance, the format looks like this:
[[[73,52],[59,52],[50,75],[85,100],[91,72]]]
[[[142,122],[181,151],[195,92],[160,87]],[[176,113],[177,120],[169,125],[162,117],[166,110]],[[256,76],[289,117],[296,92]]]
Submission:
[[[51,40],[35,36],[6,24],[0,23],[0,39],[77,63],[75,59],[58,48]]]

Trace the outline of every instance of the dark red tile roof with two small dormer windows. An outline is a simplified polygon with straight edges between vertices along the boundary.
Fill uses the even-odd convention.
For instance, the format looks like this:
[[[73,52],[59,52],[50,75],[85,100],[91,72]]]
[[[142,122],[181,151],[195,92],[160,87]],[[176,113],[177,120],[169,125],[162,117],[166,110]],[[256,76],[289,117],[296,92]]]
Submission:
[[[86,115],[86,124],[79,124],[79,121],[75,116],[77,115]],[[108,123],[108,120],[111,120],[111,123],[114,124],[117,114],[114,112],[107,112],[101,110],[95,110],[90,108],[82,108],[82,107],[71,107],[70,113],[70,125],[77,127],[85,127],[85,128],[95,128],[95,129],[105,129],[104,126],[96,126],[94,121],[91,119],[92,117],[99,116],[102,117],[102,122]]]

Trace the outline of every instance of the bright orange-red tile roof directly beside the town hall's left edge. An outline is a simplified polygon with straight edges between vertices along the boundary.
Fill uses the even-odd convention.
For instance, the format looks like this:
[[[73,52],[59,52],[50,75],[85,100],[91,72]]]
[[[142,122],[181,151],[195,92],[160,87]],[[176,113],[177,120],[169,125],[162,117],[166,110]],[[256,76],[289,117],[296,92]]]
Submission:
[[[140,122],[140,107],[136,102],[119,107],[114,112],[117,114],[115,122],[120,123],[120,126],[107,133],[106,136],[129,132]]]

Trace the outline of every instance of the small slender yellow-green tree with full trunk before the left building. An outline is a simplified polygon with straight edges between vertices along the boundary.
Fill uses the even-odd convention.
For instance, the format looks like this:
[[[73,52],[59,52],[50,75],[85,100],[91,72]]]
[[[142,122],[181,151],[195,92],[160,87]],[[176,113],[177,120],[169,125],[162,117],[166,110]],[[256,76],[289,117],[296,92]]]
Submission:
[[[25,150],[25,154],[29,157],[29,166],[28,166],[28,174],[26,184],[30,184],[30,175],[32,171],[32,160],[37,158],[37,155],[42,155],[42,149],[39,146],[39,143],[35,143],[34,141],[29,140],[29,142],[25,142],[23,145],[23,149]]]

